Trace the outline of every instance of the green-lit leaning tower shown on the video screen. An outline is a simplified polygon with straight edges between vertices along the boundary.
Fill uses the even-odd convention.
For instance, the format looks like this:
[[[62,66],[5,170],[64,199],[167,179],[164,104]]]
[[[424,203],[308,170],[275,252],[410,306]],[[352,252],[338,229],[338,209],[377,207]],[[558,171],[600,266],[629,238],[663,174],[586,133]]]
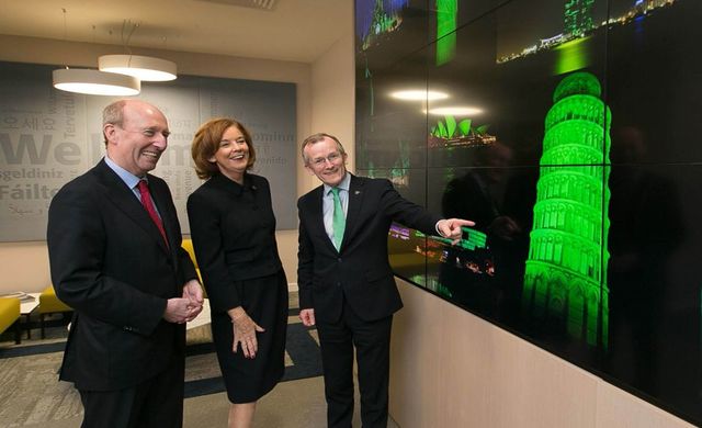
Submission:
[[[522,303],[607,348],[610,110],[595,76],[576,72],[546,114]]]

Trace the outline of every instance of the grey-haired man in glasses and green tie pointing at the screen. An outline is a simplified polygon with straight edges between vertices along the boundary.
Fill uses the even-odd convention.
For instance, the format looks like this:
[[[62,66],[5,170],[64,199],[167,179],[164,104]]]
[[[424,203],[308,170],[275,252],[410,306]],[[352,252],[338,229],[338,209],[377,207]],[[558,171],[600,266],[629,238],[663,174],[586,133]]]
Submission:
[[[441,219],[403,199],[389,181],[347,172],[347,154],[335,136],[308,137],[302,155],[305,168],[324,183],[297,202],[297,282],[299,317],[319,334],[328,426],[351,427],[355,347],[363,427],[384,428],[390,328],[403,306],[387,258],[390,223],[455,243],[461,226],[473,222]]]

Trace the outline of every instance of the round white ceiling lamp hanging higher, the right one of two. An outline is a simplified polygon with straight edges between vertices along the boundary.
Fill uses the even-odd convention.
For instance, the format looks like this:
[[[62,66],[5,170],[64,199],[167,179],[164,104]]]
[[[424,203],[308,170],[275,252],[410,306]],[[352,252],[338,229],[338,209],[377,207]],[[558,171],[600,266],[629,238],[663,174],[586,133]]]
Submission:
[[[103,55],[98,58],[100,71],[134,76],[144,81],[167,81],[177,77],[176,63],[139,55]]]

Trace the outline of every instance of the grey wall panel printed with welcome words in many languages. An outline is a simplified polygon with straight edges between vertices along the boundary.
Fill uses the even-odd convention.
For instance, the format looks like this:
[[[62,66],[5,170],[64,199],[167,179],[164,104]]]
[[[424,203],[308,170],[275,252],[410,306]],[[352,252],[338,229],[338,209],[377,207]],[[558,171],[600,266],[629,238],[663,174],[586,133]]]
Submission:
[[[102,109],[117,100],[54,89],[55,67],[0,63],[0,241],[44,240],[52,198],[104,156]],[[138,97],[166,114],[171,135],[155,174],[170,185],[183,233],[185,202],[202,181],[190,147],[212,117],[234,117],[252,134],[252,172],[271,182],[279,229],[296,227],[294,83],[181,76],[147,83]]]

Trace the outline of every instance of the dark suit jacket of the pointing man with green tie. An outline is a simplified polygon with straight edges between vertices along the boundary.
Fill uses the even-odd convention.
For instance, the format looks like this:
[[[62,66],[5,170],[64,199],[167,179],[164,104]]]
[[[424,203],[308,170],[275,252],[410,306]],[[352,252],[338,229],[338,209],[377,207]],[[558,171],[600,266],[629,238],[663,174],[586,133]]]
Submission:
[[[336,322],[346,299],[364,320],[381,319],[403,307],[387,256],[387,233],[398,222],[435,235],[440,217],[403,199],[384,179],[351,174],[347,225],[339,251],[322,218],[324,185],[302,196],[297,284],[301,309]]]

